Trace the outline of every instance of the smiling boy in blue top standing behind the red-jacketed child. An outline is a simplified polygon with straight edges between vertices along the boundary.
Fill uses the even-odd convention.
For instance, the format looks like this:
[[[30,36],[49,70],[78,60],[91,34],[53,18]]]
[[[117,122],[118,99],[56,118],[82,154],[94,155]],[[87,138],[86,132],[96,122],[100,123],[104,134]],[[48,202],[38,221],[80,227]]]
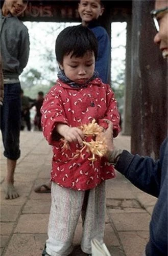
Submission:
[[[105,28],[100,26],[99,16],[104,12],[103,1],[80,0],[78,12],[82,19],[82,26],[87,26],[98,39],[98,58],[95,61],[95,70],[104,83],[110,83],[110,56],[111,47],[109,35]]]

